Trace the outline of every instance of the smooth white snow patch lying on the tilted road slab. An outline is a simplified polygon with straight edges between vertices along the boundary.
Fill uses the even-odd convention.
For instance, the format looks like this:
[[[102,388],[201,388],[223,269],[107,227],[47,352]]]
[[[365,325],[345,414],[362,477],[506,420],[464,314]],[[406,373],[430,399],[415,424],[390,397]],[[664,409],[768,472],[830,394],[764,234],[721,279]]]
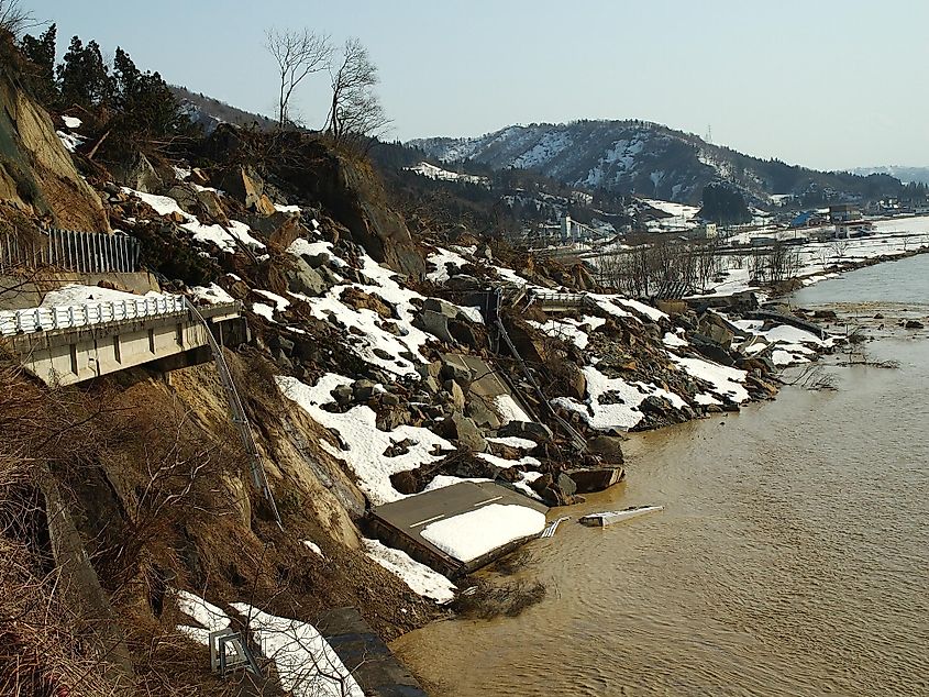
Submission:
[[[538,535],[544,528],[545,515],[535,509],[488,504],[429,523],[421,534],[450,556],[467,563],[516,540]]]

